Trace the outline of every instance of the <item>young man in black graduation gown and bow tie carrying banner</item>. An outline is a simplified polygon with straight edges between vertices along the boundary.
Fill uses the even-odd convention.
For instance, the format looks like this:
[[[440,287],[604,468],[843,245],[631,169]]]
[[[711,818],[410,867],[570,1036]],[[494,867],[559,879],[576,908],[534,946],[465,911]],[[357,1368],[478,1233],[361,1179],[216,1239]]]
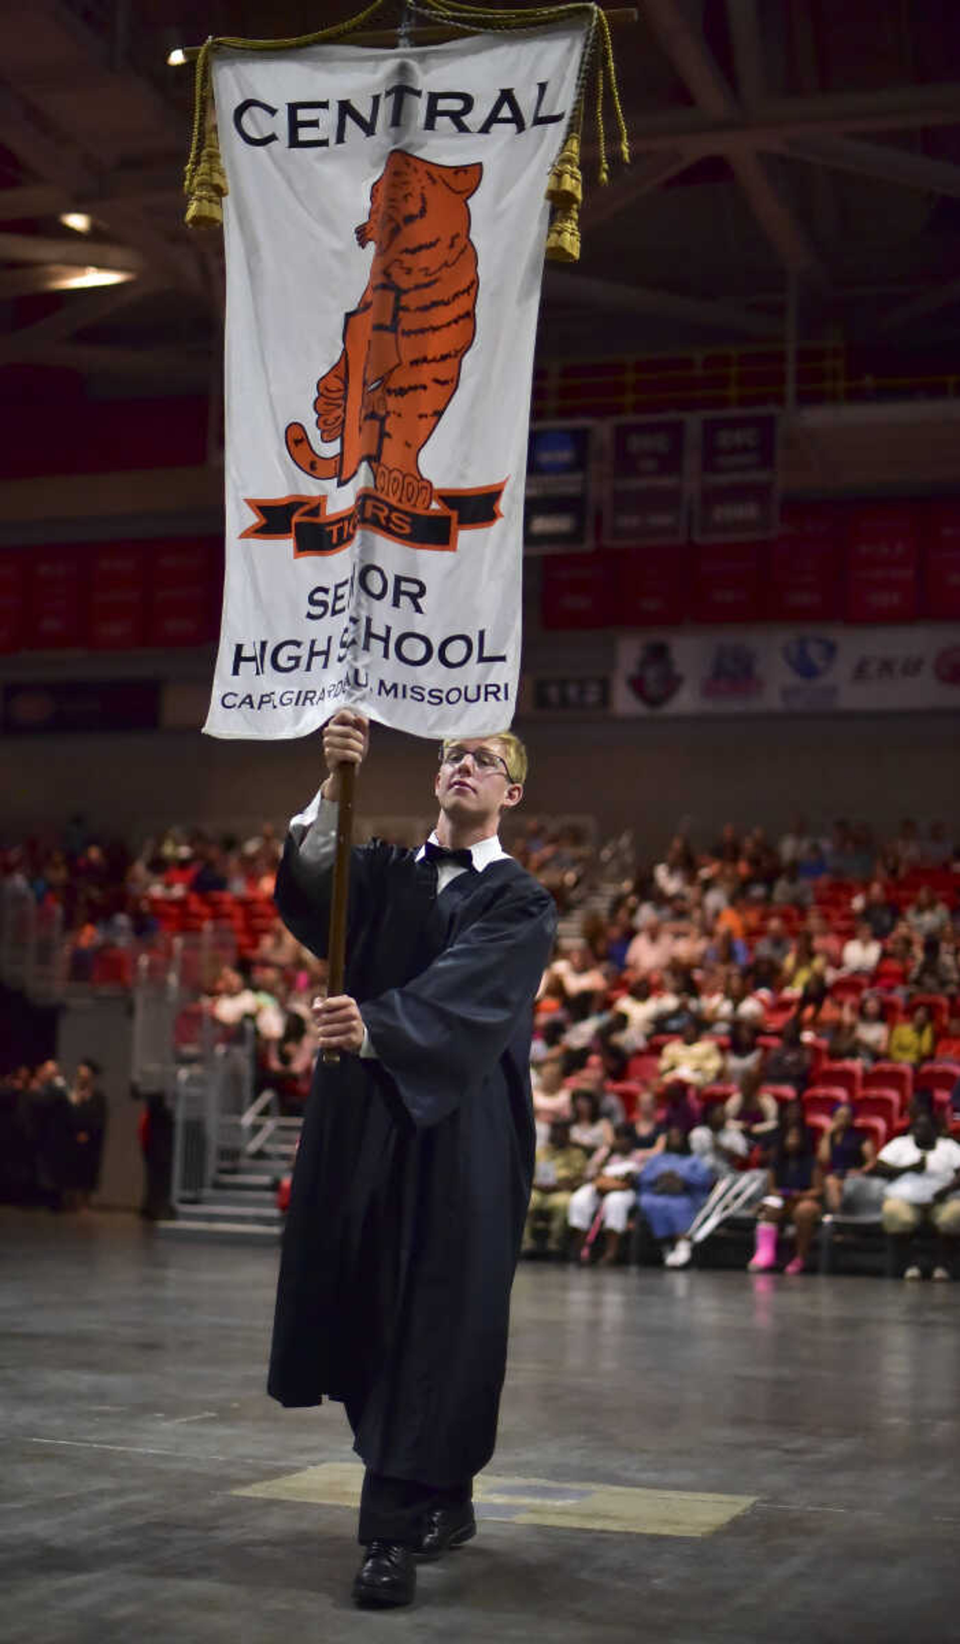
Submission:
[[[276,904],[324,955],[339,773],[368,727],[324,730],[330,774],[291,822]],[[510,1287],[533,1179],[533,1000],[551,896],[496,837],[523,796],[510,733],[444,743],[436,832],[352,852],[345,995],[317,1004],[293,1177],[270,1392],[340,1399],[367,1465],[362,1605],[404,1605],[416,1559],[475,1534],[473,1475],[496,1437]]]

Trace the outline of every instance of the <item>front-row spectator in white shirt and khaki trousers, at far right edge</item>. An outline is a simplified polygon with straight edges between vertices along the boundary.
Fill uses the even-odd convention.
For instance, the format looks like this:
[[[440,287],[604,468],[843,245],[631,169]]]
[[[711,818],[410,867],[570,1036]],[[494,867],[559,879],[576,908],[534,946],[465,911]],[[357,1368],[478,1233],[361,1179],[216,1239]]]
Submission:
[[[907,1136],[894,1136],[873,1164],[873,1175],[886,1180],[883,1228],[891,1243],[891,1261],[904,1279],[919,1279],[911,1259],[914,1235],[932,1226],[937,1233],[934,1279],[953,1277],[960,1240],[960,1143],[940,1136],[930,1110],[914,1105]]]

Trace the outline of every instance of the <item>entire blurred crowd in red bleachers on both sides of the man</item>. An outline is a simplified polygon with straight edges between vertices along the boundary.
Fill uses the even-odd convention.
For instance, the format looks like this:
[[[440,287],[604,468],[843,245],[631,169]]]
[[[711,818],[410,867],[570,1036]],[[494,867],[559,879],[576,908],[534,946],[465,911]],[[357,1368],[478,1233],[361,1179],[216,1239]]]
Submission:
[[[575,829],[531,819],[510,845],[562,912],[597,883]],[[196,1009],[224,1029],[253,1021],[258,1088],[298,1111],[325,978],[278,922],[279,850],[265,825],[219,842],[169,830],[132,855],[74,819],[0,866],[7,888],[62,912],[72,981],[130,986],[138,954],[220,932]],[[621,842],[602,861],[610,904],[557,947],[536,1003],[529,1248],[546,1226],[547,1248],[623,1259],[639,1210],[682,1264],[684,1221],[751,1175],[781,1197],[796,1263],[852,1180],[883,1174],[917,1098],[937,1133],[960,1131],[960,860],[942,824],[904,820],[883,842],[797,819],[778,843],[727,825],[708,848],[679,835],[638,866]]]

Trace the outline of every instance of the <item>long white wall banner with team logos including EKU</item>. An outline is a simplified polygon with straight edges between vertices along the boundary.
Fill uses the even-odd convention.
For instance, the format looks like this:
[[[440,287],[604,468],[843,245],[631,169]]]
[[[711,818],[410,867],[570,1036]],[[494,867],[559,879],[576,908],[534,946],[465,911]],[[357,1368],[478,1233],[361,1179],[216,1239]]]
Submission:
[[[616,643],[613,712],[960,710],[960,626],[674,628]]]

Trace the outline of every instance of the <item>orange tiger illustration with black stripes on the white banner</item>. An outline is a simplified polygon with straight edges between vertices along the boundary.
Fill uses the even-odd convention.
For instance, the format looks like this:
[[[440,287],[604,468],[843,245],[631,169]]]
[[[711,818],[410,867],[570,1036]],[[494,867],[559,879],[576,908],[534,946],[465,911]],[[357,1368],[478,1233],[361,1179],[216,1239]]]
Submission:
[[[344,317],[344,350],[314,399],[321,436],[340,441],[340,455],[319,455],[302,424],[291,423],[286,447],[306,473],[344,483],[368,460],[376,490],[429,508],[419,455],[457,391],[477,330],[467,201],[482,176],[482,164],[439,166],[395,150],[376,178],[370,215],[357,229],[358,245],[375,248],[370,279]]]

